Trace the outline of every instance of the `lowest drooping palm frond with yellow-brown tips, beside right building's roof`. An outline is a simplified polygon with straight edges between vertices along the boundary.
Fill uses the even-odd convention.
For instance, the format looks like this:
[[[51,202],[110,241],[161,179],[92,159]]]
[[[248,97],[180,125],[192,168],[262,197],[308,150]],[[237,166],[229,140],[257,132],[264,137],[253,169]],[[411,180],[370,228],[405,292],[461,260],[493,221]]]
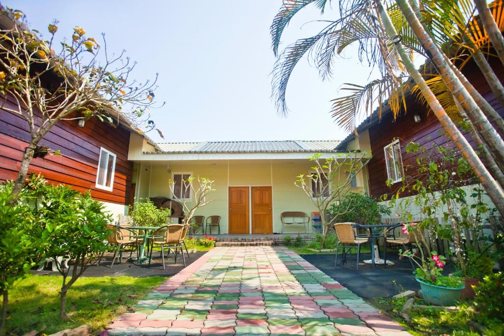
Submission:
[[[350,94],[332,100],[331,110],[335,122],[348,132],[356,132],[357,121],[365,115],[371,115],[373,107],[378,106],[378,117],[382,117],[385,102],[390,106],[394,118],[401,107],[406,110],[405,92],[408,84],[402,84],[403,76],[385,76],[371,81],[365,86],[345,83],[341,90]]]

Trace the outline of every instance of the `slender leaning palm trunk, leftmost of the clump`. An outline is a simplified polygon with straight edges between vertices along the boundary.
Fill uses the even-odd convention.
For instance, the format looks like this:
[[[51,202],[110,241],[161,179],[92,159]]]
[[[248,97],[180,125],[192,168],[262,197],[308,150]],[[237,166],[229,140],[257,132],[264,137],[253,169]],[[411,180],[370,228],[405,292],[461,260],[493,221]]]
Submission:
[[[394,25],[392,24],[387,11],[383,7],[381,0],[374,0],[374,2],[385,25],[387,35],[391,40],[396,40],[398,36],[397,31],[394,28]],[[501,215],[504,215],[504,191],[495,181],[495,179],[493,179],[493,177],[490,175],[467,139],[464,138],[453,120],[450,119],[446,111],[443,109],[443,106],[441,106],[436,96],[432,93],[427,83],[425,83],[424,78],[416,68],[415,64],[413,64],[413,62],[409,58],[409,54],[406,52],[401,42],[396,42],[395,45],[397,51],[399,52],[401,60],[406,66],[408,73],[413,77],[415,83],[420,88],[423,96],[429,104],[429,107],[439,120],[439,123],[444,127],[445,131],[448,133],[452,141],[462,153],[463,157],[471,166],[475,176],[487,191],[490,199],[497,208],[497,211]]]

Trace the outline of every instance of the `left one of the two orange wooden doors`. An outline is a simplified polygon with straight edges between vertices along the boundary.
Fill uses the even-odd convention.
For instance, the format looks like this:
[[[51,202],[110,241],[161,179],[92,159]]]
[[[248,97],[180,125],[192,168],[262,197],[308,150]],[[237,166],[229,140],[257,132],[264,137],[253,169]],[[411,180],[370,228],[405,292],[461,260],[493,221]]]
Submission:
[[[248,233],[248,187],[229,187],[229,233]]]

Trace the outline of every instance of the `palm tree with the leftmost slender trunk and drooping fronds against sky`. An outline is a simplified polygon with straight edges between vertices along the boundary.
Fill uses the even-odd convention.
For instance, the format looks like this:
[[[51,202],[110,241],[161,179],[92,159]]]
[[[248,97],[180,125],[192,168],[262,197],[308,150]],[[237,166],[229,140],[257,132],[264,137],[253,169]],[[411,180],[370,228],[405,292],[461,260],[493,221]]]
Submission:
[[[287,3],[288,6],[284,3],[284,6],[281,8],[279,14],[275,17],[271,28],[275,54],[277,54],[281,33],[292,16],[309,3],[314,2],[315,1],[307,0],[301,2],[289,2]],[[295,4],[298,4],[299,6],[296,7]],[[326,4],[327,1],[317,1],[317,5],[321,11],[324,10]],[[386,83],[387,81],[397,83],[399,80],[401,84],[399,86],[396,85],[393,89],[389,90],[393,93],[401,92],[401,90],[403,90],[402,82],[400,81],[402,76],[401,74],[398,76],[397,71],[402,70],[403,65],[406,66],[407,72],[413,77],[417,85],[420,87],[421,92],[429,103],[430,108],[439,119],[450,138],[459,148],[464,158],[466,158],[470,164],[475,175],[479,178],[480,182],[489,193],[492,201],[494,201],[498,211],[501,214],[504,214],[504,191],[501,186],[494,180],[482,164],[476,152],[463,137],[462,133],[457,128],[453,120],[448,116],[442,105],[440,105],[439,101],[427,86],[422,75],[415,68],[410,59],[410,51],[420,51],[421,47],[424,47],[424,45],[420,44],[420,48],[416,46],[407,51],[402,44],[401,37],[397,34],[397,31],[392,25],[390,17],[384,9],[381,1],[376,0],[374,1],[374,4],[375,8],[373,9],[370,2],[357,0],[352,3],[349,8],[346,8],[345,3],[340,2],[341,18],[339,20],[331,22],[324,30],[314,37],[298,40],[296,43],[288,46],[285,51],[279,55],[279,59],[274,69],[273,86],[274,95],[277,99],[277,107],[280,112],[287,112],[285,104],[285,89],[287,82],[294,66],[305,53],[309,51],[313,52],[313,50],[315,50],[318,55],[317,59],[324,60],[324,62],[319,61],[316,63],[319,66],[319,70],[321,70],[321,68],[329,69],[334,55],[340,53],[345,46],[351,44],[352,42],[357,42],[359,43],[359,56],[362,56],[363,54],[369,56],[370,54],[368,59],[371,59],[379,64],[379,69],[382,72],[383,78],[360,88],[354,86],[353,95],[357,98],[354,98],[353,100],[350,99],[350,103],[347,102],[347,104],[344,105],[344,100],[338,101],[341,106],[344,106],[346,112],[351,111],[349,115],[353,114],[354,116],[353,118],[342,118],[341,121],[347,125],[351,124],[351,119],[354,121],[355,115],[359,112],[359,106],[369,107],[372,105],[372,88],[379,88],[377,91],[380,96],[379,99],[382,100],[382,97],[388,94],[387,90],[381,90],[381,88],[384,88],[383,83]],[[376,12],[382,19],[382,22],[374,16]],[[385,29],[382,24],[385,25]],[[386,34],[384,34],[384,32],[386,32]],[[410,40],[414,41],[411,36],[405,36],[410,37]],[[416,34],[415,36],[417,37]],[[418,45],[418,43],[416,44]],[[390,46],[392,46],[392,48]],[[450,85],[452,85],[451,82]],[[465,90],[462,84],[460,84],[457,87],[457,90],[462,91],[462,89]],[[368,93],[361,94],[359,91]],[[467,93],[467,90],[465,93]],[[402,94],[395,94],[393,97],[394,96],[403,97],[402,99],[404,100],[404,95]],[[361,100],[359,97],[365,97],[365,99]],[[463,93],[463,98],[464,99],[461,100],[460,103],[466,104],[464,108],[468,109],[469,112],[473,112],[472,110],[474,110],[473,107],[475,104],[474,100],[472,101],[473,104],[467,104],[466,102],[466,99],[472,99],[472,97],[468,97],[467,94]],[[401,98],[394,99],[399,101]],[[362,101],[365,101],[365,104],[358,103]],[[399,104],[395,104],[395,106],[399,106]],[[491,129],[484,127],[480,128],[482,132],[491,132]],[[496,139],[495,142],[498,143],[498,139]]]

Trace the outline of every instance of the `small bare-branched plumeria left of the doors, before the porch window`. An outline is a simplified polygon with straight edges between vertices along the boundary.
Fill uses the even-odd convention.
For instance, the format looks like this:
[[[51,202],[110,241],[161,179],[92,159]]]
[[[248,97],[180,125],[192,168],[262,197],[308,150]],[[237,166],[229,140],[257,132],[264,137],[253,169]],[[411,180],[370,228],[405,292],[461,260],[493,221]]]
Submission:
[[[170,186],[172,197],[182,205],[182,210],[184,212],[184,217],[182,219],[183,225],[191,225],[191,219],[196,210],[205,207],[215,200],[215,198],[208,197],[208,194],[215,190],[213,188],[214,181],[205,177],[198,176],[195,178],[190,176],[187,179],[182,179],[180,196],[174,191],[175,183],[172,180],[168,180],[168,185]],[[182,197],[182,195],[190,195],[192,200]]]

